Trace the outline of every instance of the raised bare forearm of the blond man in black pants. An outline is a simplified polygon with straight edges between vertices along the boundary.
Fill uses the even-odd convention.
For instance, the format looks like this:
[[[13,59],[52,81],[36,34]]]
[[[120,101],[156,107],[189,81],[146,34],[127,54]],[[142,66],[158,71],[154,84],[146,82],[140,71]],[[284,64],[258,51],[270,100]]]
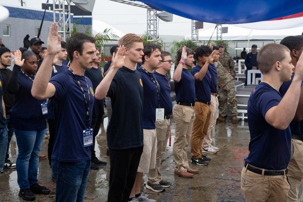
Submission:
[[[101,81],[101,83],[97,86],[96,91],[95,91],[95,98],[97,100],[102,100],[103,98],[105,98],[108,89],[112,83],[112,80],[115,76],[115,74],[117,73],[118,69],[115,68],[111,68],[108,69],[108,71],[106,73],[107,76],[104,77]]]

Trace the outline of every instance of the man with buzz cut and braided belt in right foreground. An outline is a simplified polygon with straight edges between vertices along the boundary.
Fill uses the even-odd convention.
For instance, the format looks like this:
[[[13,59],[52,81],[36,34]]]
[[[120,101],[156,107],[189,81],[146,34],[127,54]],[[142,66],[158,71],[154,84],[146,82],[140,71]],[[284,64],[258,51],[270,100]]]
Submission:
[[[291,80],[289,49],[281,44],[264,45],[257,56],[263,81],[248,100],[250,143],[241,173],[241,190],[246,202],[286,202],[290,184],[287,165],[291,157],[291,130],[303,79],[303,55],[296,65],[291,85],[282,97],[279,88]],[[283,114],[283,115],[282,115]]]

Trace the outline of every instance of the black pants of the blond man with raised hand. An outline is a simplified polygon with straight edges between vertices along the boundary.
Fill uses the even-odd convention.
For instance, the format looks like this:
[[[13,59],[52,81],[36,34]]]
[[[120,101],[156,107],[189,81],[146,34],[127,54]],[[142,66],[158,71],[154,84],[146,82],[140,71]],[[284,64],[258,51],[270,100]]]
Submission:
[[[127,202],[135,183],[142,147],[109,149],[111,164],[109,173],[108,202]]]

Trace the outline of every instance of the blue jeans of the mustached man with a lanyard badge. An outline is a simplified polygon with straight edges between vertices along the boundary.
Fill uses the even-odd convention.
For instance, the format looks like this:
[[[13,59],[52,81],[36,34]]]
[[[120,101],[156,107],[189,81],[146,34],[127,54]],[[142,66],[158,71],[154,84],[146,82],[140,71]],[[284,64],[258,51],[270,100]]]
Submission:
[[[52,159],[57,202],[83,202],[90,167],[91,160],[62,162]]]

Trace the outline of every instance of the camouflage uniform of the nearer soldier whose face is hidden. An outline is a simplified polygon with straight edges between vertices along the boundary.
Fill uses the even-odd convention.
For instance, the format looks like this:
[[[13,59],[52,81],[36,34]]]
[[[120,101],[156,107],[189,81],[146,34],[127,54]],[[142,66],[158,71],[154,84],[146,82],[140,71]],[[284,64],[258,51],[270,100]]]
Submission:
[[[219,94],[219,117],[225,117],[227,111],[227,98],[229,98],[229,105],[231,107],[231,116],[237,116],[237,99],[235,92],[234,78],[224,68],[220,62],[215,62],[217,68],[217,89]]]

